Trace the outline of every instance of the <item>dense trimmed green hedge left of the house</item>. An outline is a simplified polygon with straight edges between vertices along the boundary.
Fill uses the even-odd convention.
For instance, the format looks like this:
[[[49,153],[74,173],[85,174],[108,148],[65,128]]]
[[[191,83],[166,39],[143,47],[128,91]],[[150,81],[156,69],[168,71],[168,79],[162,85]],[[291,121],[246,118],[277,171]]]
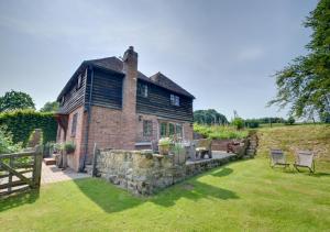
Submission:
[[[57,122],[54,113],[19,110],[0,113],[0,126],[4,125],[14,143],[23,142],[25,146],[34,129],[42,129],[43,143],[56,141]]]

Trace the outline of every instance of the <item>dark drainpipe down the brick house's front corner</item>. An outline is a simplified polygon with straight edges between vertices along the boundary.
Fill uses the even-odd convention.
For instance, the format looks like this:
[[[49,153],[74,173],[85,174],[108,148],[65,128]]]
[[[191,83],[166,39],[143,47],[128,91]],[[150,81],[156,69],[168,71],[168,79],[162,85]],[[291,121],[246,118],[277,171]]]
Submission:
[[[90,88],[89,88],[89,97],[88,97],[88,107],[87,107],[87,123],[86,123],[86,128],[85,128],[85,141],[84,141],[84,157],[82,161],[80,162],[79,165],[79,172],[84,173],[85,172],[85,164],[87,161],[87,154],[88,154],[88,135],[89,135],[89,124],[90,124],[90,117],[91,117],[91,93],[92,93],[92,84],[94,84],[94,68],[91,66],[89,66],[89,68],[91,69],[91,74],[90,74]],[[86,81],[87,85],[87,81]]]

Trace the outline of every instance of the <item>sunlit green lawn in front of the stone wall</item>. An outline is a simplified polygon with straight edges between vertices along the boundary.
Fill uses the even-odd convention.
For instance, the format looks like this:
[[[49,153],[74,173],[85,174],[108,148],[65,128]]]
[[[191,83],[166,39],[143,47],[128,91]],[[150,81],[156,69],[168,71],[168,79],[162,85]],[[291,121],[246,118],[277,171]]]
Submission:
[[[273,130],[260,131],[256,158],[213,169],[154,197],[132,197],[88,178],[9,198],[0,201],[0,230],[329,231],[330,163],[320,159],[316,175],[270,168],[266,146],[282,144],[274,142],[276,130],[290,133]]]

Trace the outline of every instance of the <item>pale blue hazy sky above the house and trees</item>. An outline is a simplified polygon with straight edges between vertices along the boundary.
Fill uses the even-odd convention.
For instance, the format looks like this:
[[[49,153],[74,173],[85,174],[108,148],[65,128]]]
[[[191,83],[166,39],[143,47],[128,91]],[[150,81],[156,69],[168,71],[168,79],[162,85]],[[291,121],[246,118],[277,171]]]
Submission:
[[[229,119],[287,118],[266,108],[272,75],[307,53],[302,21],[317,0],[0,1],[0,96],[54,101],[82,60],[139,53],[139,70],[161,71]]]

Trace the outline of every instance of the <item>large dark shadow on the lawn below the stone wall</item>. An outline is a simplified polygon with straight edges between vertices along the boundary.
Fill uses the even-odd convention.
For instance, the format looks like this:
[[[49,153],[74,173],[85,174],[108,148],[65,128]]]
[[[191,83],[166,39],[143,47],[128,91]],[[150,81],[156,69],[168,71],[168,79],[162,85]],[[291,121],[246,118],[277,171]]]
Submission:
[[[183,198],[198,201],[200,199],[238,199],[235,192],[223,188],[208,185],[198,180],[199,177],[205,175],[213,175],[218,177],[227,176],[233,173],[231,168],[222,168],[219,172],[212,170],[206,174],[190,178],[183,183],[162,189],[154,196],[136,197],[129,194],[127,190],[118,188],[105,179],[87,178],[76,179],[75,184],[79,187],[90,200],[97,203],[103,211],[111,213],[118,212],[133,207],[140,206],[145,202],[152,202],[162,207],[175,206],[176,201]]]

